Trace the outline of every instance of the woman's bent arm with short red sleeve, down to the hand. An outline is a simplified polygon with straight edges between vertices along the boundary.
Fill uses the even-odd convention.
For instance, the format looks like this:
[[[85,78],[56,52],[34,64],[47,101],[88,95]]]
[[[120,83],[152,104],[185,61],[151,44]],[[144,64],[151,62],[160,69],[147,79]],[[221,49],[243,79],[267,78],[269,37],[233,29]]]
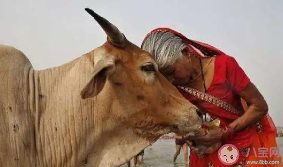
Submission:
[[[226,80],[231,89],[247,102],[247,111],[224,129],[206,123],[204,126],[209,128],[208,134],[202,137],[189,137],[189,140],[211,143],[231,137],[234,132],[255,124],[268,112],[264,97],[233,57],[227,59]]]

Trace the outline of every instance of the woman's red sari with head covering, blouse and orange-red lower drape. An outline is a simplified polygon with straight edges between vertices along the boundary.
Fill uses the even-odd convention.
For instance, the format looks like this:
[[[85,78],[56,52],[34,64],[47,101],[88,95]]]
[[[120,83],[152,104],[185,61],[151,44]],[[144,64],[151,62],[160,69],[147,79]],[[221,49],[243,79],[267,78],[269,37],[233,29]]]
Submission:
[[[213,119],[219,119],[221,122],[221,127],[230,124],[235,119],[240,117],[246,110],[247,105],[245,100],[241,99],[239,93],[245,89],[245,87],[250,83],[249,77],[245,74],[243,69],[238,65],[237,61],[223,53],[222,51],[198,41],[190,40],[174,30],[168,28],[158,28],[151,31],[146,38],[157,31],[168,31],[174,33],[175,35],[181,37],[189,48],[191,48],[199,57],[206,58],[215,56],[215,66],[214,66],[214,76],[210,87],[207,89],[207,93],[217,97],[220,100],[224,100],[226,103],[233,105],[240,112],[238,114],[229,112],[225,109],[219,108],[214,104],[200,100],[195,96],[192,96],[182,89],[179,89],[181,94],[188,99],[191,103],[199,106],[208,112]],[[145,38],[145,39],[146,39]],[[255,156],[253,147],[258,152],[260,147],[277,147],[275,140],[276,127],[266,114],[260,121],[259,125],[253,125],[245,128],[240,132],[236,132],[234,138],[225,141],[224,144],[233,144],[236,146],[240,152],[240,157],[234,167],[282,167],[281,157],[268,157],[269,158],[258,158]],[[248,148],[250,148],[249,153]],[[212,154],[208,154],[202,157],[198,157],[192,150],[190,151],[190,162],[189,167],[225,167],[220,162],[217,156],[218,150]],[[247,165],[246,161],[279,161],[280,164],[264,166],[263,164],[257,165]]]

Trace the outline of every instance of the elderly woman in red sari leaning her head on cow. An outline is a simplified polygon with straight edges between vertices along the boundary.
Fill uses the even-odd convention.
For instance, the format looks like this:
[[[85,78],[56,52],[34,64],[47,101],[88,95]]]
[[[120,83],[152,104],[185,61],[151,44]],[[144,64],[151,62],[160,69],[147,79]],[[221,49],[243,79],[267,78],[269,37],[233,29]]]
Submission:
[[[235,58],[169,28],[148,33],[141,48],[151,53],[159,71],[186,99],[206,112],[208,121],[218,123],[214,126],[206,122],[208,131],[203,136],[182,136],[195,147],[221,142],[209,153],[191,149],[189,167],[226,166],[218,158],[218,149],[224,144],[232,144],[239,150],[240,157],[234,167],[245,167],[247,160],[276,160],[280,161],[279,165],[268,167],[282,167],[281,157],[270,157],[269,150],[268,158],[258,157],[260,147],[277,146],[276,128],[267,114],[264,97]]]

